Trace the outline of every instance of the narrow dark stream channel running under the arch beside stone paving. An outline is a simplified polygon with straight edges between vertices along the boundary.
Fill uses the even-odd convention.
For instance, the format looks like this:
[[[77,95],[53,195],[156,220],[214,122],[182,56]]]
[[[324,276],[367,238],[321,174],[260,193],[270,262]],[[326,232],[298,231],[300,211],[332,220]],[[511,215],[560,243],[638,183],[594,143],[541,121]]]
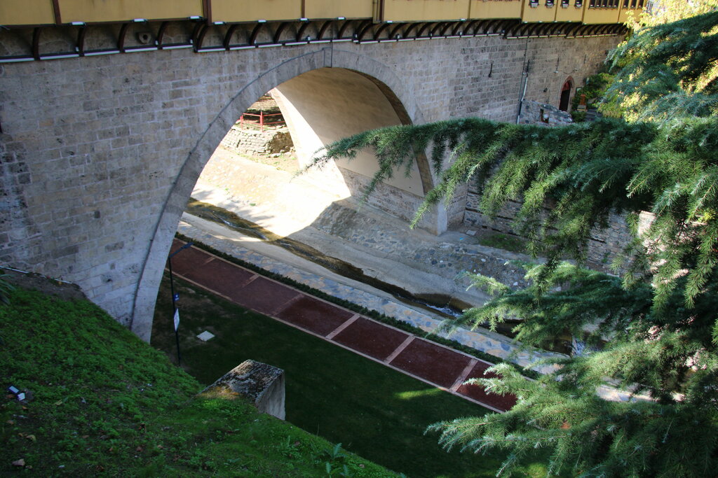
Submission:
[[[471,305],[466,302],[454,299],[448,295],[443,294],[431,294],[431,295],[413,295],[410,292],[397,287],[396,285],[383,282],[376,277],[370,277],[362,271],[362,269],[355,267],[353,264],[323,254],[314,247],[311,247],[302,242],[295,241],[289,237],[279,236],[274,232],[265,229],[264,227],[243,219],[237,214],[227,211],[226,209],[215,206],[214,204],[197,201],[191,198],[185,208],[187,213],[193,216],[200,217],[207,221],[213,221],[218,224],[224,224],[230,229],[234,229],[241,234],[260,239],[261,241],[267,242],[268,244],[274,244],[282,247],[297,257],[306,259],[314,262],[314,264],[320,265],[325,269],[328,269],[335,274],[339,274],[348,279],[353,279],[357,282],[363,282],[366,285],[374,287],[375,289],[381,290],[390,294],[399,302],[408,305],[409,307],[418,307],[428,312],[433,312],[444,318],[459,317],[462,314],[462,310],[470,308]],[[504,335],[508,338],[513,338],[512,329],[519,322],[518,321],[507,321],[503,324],[499,324],[496,330],[500,335]],[[546,350],[552,350],[555,352],[566,353],[566,347],[564,340],[556,340],[553,344],[547,344]]]

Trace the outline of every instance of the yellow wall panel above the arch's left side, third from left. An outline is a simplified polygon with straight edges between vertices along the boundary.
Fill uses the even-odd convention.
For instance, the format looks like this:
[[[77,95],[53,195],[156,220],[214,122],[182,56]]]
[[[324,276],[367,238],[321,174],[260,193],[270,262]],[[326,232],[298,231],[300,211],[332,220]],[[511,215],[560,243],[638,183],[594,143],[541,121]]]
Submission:
[[[212,0],[213,21],[296,20],[301,0]]]

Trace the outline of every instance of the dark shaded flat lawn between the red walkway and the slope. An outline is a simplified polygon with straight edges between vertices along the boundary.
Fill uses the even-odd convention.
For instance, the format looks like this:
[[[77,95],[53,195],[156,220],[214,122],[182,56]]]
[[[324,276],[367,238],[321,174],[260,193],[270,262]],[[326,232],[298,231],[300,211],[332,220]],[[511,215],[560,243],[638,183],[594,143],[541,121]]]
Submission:
[[[409,477],[495,476],[498,456],[447,453],[429,424],[488,413],[485,408],[444,393],[332,343],[269,317],[245,310],[182,281],[180,347],[182,367],[209,384],[252,358],[286,373],[286,419],[362,457]],[[174,360],[169,282],[159,292],[152,345]],[[216,337],[195,336],[209,330]],[[524,476],[545,476],[531,464]]]

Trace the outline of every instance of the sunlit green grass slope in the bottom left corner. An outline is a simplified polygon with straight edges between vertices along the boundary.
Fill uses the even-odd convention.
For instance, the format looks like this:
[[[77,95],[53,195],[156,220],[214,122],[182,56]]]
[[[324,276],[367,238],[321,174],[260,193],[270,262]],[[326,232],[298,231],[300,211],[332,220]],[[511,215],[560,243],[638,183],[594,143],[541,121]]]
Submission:
[[[0,475],[396,476],[195,378],[87,301],[0,306]],[[345,468],[346,467],[346,468]]]

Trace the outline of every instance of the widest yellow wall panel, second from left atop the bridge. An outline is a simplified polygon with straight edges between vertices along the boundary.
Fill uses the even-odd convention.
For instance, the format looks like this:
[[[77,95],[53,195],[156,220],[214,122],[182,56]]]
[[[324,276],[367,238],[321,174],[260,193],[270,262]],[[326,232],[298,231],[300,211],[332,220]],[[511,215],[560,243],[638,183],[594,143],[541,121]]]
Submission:
[[[0,0],[2,2],[6,0]],[[202,16],[202,0],[59,0],[62,23]],[[51,5],[50,0],[47,1]]]

